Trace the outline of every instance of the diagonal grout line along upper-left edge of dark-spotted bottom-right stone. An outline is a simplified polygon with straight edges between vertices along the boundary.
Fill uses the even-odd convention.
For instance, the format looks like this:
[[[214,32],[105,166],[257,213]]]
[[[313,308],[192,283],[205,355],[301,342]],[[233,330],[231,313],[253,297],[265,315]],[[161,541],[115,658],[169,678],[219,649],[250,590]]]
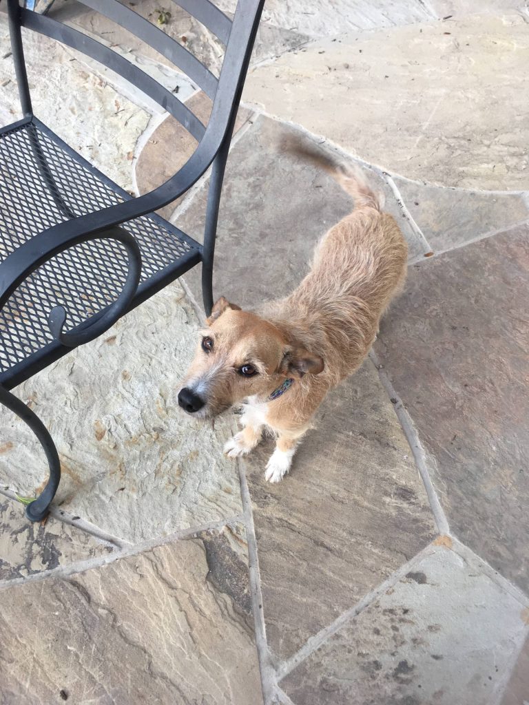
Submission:
[[[408,560],[407,563],[404,563],[403,565],[400,566],[400,568],[397,568],[394,572],[387,577],[384,582],[380,583],[375,587],[375,589],[372,589],[370,592],[365,594],[363,598],[358,601],[355,606],[351,607],[348,609],[346,612],[343,612],[334,622],[327,627],[324,627],[320,632],[317,632],[313,637],[310,637],[305,644],[301,647],[299,651],[296,652],[291,658],[288,658],[286,661],[284,661],[279,669],[277,670],[277,680],[281,682],[283,678],[285,678],[288,673],[291,673],[291,671],[299,666],[299,664],[302,661],[305,661],[308,656],[313,654],[317,649],[324,644],[324,642],[327,642],[327,640],[334,636],[336,632],[341,630],[341,627],[346,625],[348,622],[350,622],[353,618],[357,617],[360,613],[362,613],[367,607],[369,607],[377,598],[381,597],[384,592],[386,592],[389,588],[393,587],[396,582],[399,582],[403,577],[406,576],[408,572],[411,571],[411,568],[418,563],[422,558],[425,558],[425,556],[430,556],[434,551],[435,551],[436,546],[434,544],[428,544],[425,546],[425,548],[422,548],[422,551],[419,551],[411,560]]]

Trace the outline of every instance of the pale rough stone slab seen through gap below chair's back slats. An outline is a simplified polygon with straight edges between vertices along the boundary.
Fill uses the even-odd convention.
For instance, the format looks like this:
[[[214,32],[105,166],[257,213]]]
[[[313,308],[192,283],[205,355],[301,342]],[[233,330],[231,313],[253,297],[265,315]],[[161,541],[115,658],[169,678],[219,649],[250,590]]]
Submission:
[[[9,51],[7,19],[1,14],[0,56]],[[132,190],[134,149],[150,114],[73,60],[58,42],[24,32],[24,51],[35,115],[91,164]],[[0,121],[8,125],[21,117],[13,56],[7,56],[0,59]]]

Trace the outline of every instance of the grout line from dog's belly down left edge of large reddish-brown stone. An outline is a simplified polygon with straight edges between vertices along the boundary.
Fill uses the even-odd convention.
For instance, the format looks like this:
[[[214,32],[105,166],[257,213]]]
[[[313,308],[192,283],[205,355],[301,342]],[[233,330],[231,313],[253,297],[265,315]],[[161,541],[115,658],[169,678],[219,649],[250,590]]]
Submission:
[[[394,409],[397,417],[399,418],[399,421],[401,422],[401,427],[404,431],[404,435],[406,436],[406,439],[410,444],[411,452],[413,453],[413,458],[415,458],[415,465],[417,465],[418,467],[422,483],[425,486],[428,501],[430,502],[430,507],[432,508],[434,519],[437,524],[437,529],[439,530],[440,534],[448,534],[448,520],[446,519],[446,515],[442,508],[441,502],[439,501],[437,492],[435,491],[432,483],[432,479],[430,478],[430,472],[428,471],[427,467],[425,449],[422,447],[422,443],[420,442],[417,429],[415,429],[415,425],[413,424],[413,419],[409,415],[408,410],[406,410],[406,408],[404,407],[401,399],[399,398],[399,395],[394,389],[394,386],[391,384],[389,375],[380,364],[379,358],[377,357],[377,353],[375,353],[375,350],[370,350],[369,357],[378,371],[382,386],[384,386],[384,389],[387,391],[389,398],[397,400],[397,403],[394,404]]]

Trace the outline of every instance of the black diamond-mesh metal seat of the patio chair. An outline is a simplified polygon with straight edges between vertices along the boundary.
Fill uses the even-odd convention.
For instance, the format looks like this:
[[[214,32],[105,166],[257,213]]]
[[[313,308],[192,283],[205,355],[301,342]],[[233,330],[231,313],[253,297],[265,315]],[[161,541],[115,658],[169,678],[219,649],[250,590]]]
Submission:
[[[0,262],[47,228],[124,200],[126,191],[36,118],[0,130]],[[156,214],[122,227],[141,250],[142,300],[200,261],[200,245]],[[54,344],[54,306],[65,307],[71,330],[116,300],[126,274],[126,251],[112,240],[75,245],[40,266],[0,311],[0,382],[15,371],[20,381],[20,368]]]

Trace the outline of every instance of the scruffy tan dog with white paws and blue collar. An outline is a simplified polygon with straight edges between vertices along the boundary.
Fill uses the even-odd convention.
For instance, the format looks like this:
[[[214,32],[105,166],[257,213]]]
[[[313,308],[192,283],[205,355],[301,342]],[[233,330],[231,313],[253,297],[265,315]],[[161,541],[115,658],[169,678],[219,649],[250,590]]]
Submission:
[[[184,410],[203,418],[243,403],[243,430],[224,448],[230,458],[272,431],[269,482],[290,469],[327,391],[360,367],[406,276],[406,241],[379,197],[343,165],[312,149],[294,151],[332,172],[355,209],[324,235],[291,295],[255,313],[217,301],[178,394]]]

